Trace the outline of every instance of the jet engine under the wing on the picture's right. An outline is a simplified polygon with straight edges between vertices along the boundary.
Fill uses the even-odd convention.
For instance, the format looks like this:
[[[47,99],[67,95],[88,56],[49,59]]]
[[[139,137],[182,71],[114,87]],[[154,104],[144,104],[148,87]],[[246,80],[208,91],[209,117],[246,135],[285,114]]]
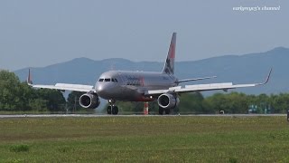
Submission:
[[[164,93],[159,96],[157,103],[163,109],[173,109],[178,106],[180,100],[176,95]]]

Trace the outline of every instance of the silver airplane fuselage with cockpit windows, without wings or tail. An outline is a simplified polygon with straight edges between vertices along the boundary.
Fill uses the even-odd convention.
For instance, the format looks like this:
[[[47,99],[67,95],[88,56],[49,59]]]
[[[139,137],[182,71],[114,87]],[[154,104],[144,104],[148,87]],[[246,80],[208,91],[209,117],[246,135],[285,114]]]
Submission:
[[[98,96],[115,101],[154,101],[148,90],[165,90],[177,85],[177,78],[162,72],[109,71],[95,85]]]

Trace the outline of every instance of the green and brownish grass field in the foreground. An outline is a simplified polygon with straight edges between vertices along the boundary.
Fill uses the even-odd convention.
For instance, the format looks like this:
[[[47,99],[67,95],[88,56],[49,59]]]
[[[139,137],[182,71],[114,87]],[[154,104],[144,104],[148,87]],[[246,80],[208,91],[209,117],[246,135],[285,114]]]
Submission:
[[[285,117],[0,119],[0,162],[289,162]]]

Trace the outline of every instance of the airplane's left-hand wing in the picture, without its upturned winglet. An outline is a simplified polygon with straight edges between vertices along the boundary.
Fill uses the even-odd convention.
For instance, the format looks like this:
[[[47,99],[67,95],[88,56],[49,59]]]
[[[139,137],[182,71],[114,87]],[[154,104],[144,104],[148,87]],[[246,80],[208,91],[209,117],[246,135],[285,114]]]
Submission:
[[[82,85],[82,84],[70,84],[70,83],[56,83],[55,85],[37,85],[28,83],[33,88],[41,89],[52,89],[52,90],[61,90],[61,91],[83,91],[89,92],[94,91],[92,85]]]

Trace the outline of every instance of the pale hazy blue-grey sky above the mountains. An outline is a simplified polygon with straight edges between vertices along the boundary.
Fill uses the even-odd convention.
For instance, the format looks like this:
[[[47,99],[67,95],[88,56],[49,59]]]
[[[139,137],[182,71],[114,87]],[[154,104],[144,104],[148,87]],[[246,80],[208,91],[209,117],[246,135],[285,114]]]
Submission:
[[[260,10],[233,10],[239,6]],[[289,47],[288,7],[288,0],[0,0],[0,69],[78,57],[163,62],[172,32],[176,61]]]

